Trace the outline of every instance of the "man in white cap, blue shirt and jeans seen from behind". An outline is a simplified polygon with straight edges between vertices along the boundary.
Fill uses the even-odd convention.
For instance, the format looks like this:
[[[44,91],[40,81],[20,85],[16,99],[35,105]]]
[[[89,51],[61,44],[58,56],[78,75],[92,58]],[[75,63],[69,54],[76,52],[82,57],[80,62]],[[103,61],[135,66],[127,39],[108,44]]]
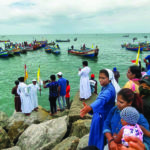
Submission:
[[[66,107],[66,87],[67,87],[67,80],[62,77],[62,72],[57,73],[58,79],[58,104],[61,111],[65,110]],[[61,104],[61,99],[63,100],[63,107]]]

